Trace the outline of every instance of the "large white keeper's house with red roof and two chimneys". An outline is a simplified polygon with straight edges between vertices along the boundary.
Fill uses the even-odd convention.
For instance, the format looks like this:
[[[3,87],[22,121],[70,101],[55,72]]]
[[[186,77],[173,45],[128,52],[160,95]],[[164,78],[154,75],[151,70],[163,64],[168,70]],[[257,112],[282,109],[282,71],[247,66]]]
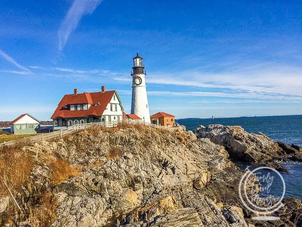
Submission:
[[[63,96],[51,119],[53,126],[57,125],[55,129],[61,129],[91,122],[122,121],[123,110],[117,92],[105,91],[105,86],[92,93],[78,94],[78,89],[74,89],[73,94]]]

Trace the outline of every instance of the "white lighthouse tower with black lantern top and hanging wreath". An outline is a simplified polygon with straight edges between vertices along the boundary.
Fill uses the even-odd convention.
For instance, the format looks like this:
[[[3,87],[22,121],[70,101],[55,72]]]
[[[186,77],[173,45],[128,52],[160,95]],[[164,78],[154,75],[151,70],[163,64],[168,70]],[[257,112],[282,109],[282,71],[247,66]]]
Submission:
[[[134,113],[145,122],[150,123],[150,112],[145,82],[146,72],[144,70],[144,65],[142,64],[142,58],[138,53],[133,58],[132,69],[131,113]]]

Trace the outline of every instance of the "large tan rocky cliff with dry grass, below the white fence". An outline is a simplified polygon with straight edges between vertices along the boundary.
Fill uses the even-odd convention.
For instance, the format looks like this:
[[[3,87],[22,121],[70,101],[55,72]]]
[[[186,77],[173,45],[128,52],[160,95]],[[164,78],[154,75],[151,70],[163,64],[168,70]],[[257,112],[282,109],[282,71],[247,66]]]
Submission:
[[[6,178],[23,226],[294,226],[302,208],[296,199],[284,202],[279,221],[250,219],[237,193],[244,172],[229,159],[228,142],[204,137],[140,125],[95,127],[5,148],[0,168],[9,175],[10,160],[28,160],[14,165],[24,169],[21,183]],[[0,197],[1,224],[12,226],[17,209],[8,194]]]

